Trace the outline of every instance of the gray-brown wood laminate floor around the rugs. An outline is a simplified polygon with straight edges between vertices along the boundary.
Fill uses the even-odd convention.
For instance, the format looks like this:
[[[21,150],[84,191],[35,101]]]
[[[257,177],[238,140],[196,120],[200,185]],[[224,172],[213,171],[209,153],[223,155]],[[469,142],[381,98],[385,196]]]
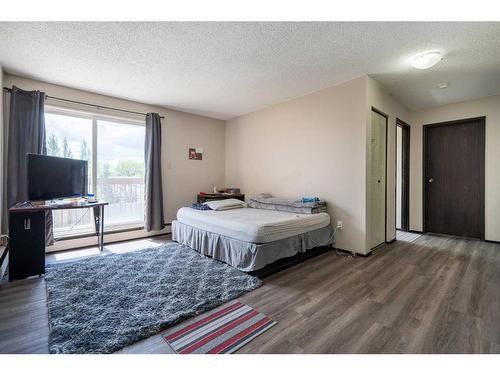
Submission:
[[[369,257],[331,251],[264,281],[239,300],[279,323],[239,353],[500,353],[497,243],[423,235]],[[47,351],[43,278],[0,285],[0,352]],[[171,350],[155,335],[120,352]]]

